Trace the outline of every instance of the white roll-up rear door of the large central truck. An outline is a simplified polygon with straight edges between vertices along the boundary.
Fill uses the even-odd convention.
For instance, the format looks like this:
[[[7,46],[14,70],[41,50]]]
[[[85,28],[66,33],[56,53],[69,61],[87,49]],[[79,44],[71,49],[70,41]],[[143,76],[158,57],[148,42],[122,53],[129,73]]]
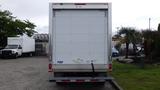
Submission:
[[[55,10],[55,64],[107,64],[107,12]]]

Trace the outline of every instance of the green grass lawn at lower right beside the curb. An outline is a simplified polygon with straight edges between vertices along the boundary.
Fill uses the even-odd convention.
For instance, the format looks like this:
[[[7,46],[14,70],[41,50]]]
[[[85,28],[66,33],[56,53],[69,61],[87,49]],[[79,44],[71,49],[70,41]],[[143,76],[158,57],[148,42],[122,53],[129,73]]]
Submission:
[[[124,90],[160,90],[160,66],[146,65],[142,69],[114,61],[111,74]]]

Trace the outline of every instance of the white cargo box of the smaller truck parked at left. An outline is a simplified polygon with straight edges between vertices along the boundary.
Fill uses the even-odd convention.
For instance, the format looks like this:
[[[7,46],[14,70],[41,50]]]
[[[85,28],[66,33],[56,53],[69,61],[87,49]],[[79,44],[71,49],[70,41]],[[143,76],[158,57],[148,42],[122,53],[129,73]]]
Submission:
[[[22,53],[35,52],[35,39],[28,36],[8,37],[8,45],[21,45]]]

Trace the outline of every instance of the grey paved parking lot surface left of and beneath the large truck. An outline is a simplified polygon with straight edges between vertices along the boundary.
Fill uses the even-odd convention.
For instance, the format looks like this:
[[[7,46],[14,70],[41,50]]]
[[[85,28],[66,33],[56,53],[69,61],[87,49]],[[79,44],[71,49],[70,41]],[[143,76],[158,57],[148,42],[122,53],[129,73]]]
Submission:
[[[0,90],[114,90],[105,85],[57,85],[48,81],[47,57],[0,59]]]

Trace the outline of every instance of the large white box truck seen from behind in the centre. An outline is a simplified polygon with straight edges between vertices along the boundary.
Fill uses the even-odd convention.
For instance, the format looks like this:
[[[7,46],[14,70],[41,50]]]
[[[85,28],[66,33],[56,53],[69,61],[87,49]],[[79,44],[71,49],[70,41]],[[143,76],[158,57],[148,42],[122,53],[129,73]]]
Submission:
[[[110,79],[111,3],[50,3],[49,44],[50,81]]]

